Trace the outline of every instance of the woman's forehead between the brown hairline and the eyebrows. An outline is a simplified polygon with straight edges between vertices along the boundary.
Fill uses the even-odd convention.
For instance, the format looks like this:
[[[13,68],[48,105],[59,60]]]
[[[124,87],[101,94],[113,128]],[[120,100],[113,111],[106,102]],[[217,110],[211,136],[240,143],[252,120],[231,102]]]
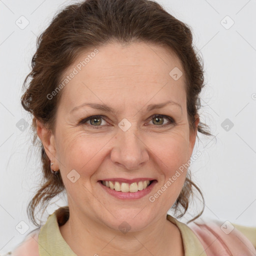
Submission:
[[[61,97],[72,106],[86,97],[122,103],[148,101],[150,97],[149,103],[153,103],[163,96],[183,101],[185,97],[181,61],[170,50],[154,44],[109,43],[86,50],[67,68],[62,80],[71,73],[75,75]],[[178,79],[173,76],[175,73],[180,76]]]

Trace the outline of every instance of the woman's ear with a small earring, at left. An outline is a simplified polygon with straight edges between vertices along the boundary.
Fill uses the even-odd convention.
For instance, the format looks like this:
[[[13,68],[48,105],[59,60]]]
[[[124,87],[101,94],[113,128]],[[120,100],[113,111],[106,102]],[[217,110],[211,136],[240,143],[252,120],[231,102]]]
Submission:
[[[42,145],[44,147],[45,153],[53,165],[52,169],[58,170],[58,161],[56,159],[56,144],[55,137],[51,130],[49,130],[43,123],[36,119],[36,132],[38,137],[40,138]]]

